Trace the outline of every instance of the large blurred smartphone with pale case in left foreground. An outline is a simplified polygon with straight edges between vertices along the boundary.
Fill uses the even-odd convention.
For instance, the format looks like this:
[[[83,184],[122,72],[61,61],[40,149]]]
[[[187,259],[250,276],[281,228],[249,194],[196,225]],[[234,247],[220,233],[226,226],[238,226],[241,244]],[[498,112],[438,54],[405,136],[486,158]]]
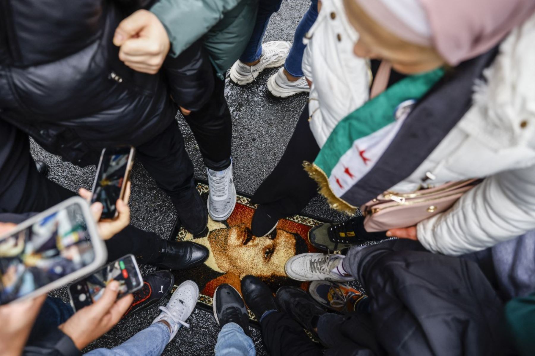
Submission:
[[[0,236],[0,304],[62,287],[106,256],[88,203],[67,199]]]

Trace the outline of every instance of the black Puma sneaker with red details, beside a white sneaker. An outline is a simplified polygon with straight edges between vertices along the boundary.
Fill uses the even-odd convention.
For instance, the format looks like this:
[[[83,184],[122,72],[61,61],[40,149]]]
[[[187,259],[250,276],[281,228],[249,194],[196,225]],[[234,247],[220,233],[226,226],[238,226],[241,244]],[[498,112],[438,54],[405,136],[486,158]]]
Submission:
[[[132,315],[159,304],[173,288],[174,277],[169,271],[156,271],[143,277],[143,287],[132,293],[134,302],[125,313]]]

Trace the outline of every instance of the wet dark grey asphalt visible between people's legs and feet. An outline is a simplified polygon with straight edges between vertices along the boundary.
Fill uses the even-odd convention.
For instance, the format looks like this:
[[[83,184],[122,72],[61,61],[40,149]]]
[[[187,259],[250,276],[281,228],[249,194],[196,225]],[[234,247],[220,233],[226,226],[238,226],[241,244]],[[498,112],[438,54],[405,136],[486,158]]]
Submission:
[[[297,23],[308,6],[310,6],[308,0],[283,0],[280,11],[271,18],[264,41],[292,42]],[[276,72],[277,69],[265,70],[255,82],[243,87],[235,85],[228,76],[226,79],[225,94],[233,117],[234,182],[238,191],[247,194],[253,194],[277,164],[292,136],[297,118],[307,102],[307,94],[286,99],[272,97],[266,89],[266,81]],[[180,115],[177,115],[177,120],[184,135],[187,151],[195,166],[196,178],[207,179],[206,169],[192,132]],[[49,164],[50,179],[73,191],[77,191],[80,187],[91,188],[95,167],[85,169],[75,167],[43,151],[35,144],[32,144],[32,154],[36,160]],[[132,224],[144,230],[154,231],[162,238],[169,238],[176,218],[173,205],[139,163],[134,165],[132,172],[130,205]],[[331,221],[342,221],[345,218],[342,214],[330,210],[320,196],[312,200],[303,212]],[[145,274],[154,271],[155,268],[143,266],[142,270]],[[65,290],[58,290],[52,294],[63,298],[66,302],[68,300]],[[162,305],[165,303],[166,300]],[[158,308],[152,308],[126,318],[84,351],[117,346],[150,326],[158,314]],[[163,354],[213,355],[219,327],[212,313],[196,308],[188,322],[191,327],[181,328]],[[267,355],[259,330],[251,328],[251,336],[255,342],[257,355]]]

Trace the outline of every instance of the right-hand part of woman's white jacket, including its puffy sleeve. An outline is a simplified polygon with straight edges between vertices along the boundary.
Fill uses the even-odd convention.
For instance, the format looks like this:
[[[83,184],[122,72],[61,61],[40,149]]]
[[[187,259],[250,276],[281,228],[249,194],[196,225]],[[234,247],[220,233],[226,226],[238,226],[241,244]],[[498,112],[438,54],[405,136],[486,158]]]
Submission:
[[[482,250],[535,229],[535,15],[513,30],[475,83],[473,106],[394,192],[487,177],[452,209],[417,225],[425,248],[447,255]],[[426,181],[426,183],[429,180]]]

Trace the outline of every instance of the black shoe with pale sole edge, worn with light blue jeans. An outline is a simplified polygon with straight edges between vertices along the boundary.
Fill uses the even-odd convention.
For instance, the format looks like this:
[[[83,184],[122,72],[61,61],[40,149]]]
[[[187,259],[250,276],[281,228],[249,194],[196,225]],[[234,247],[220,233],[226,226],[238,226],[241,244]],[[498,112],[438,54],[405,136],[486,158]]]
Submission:
[[[213,316],[220,327],[233,322],[249,335],[249,314],[239,292],[230,284],[221,284],[213,294]]]

